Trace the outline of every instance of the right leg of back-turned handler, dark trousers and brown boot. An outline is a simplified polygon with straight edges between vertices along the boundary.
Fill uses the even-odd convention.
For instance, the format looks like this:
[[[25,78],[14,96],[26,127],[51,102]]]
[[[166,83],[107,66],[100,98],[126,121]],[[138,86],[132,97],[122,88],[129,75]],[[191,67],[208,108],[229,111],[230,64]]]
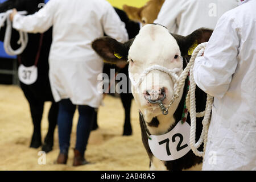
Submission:
[[[75,157],[73,166],[80,166],[88,163],[84,159],[84,152],[86,150],[95,114],[96,111],[93,107],[79,106],[79,122],[77,123],[76,130],[76,147],[74,150]]]

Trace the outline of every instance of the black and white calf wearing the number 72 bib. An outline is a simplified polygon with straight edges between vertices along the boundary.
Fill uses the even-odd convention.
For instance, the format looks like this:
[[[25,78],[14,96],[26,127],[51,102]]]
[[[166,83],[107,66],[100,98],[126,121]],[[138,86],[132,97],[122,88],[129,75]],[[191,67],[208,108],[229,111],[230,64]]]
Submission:
[[[131,90],[135,102],[137,102],[139,107],[142,141],[150,158],[150,169],[152,170],[183,170],[192,169],[192,167],[195,166],[200,168],[202,158],[193,154],[192,150],[189,149],[188,152],[180,156],[180,158],[167,161],[159,160],[152,154],[148,144],[150,135],[159,136],[171,132],[178,125],[179,121],[181,121],[188,81],[185,82],[184,88],[181,89],[180,97],[175,100],[168,110],[169,113],[163,115],[159,106],[151,104],[148,98],[157,95],[154,101],[163,100],[163,104],[165,106],[168,105],[174,94],[174,81],[166,72],[159,71],[160,69],[152,69],[150,74],[145,74],[145,71],[148,71],[148,68],[152,68],[154,65],[158,65],[158,67],[164,67],[168,70],[177,69],[177,76],[180,76],[190,58],[188,55],[189,48],[195,42],[198,44],[207,42],[211,34],[211,30],[201,28],[192,32],[191,35],[184,37],[170,34],[167,28],[159,24],[148,24],[139,31],[139,34],[134,39],[130,39],[124,44],[109,37],[99,38],[92,43],[93,49],[104,60],[108,60],[112,63],[129,61],[130,77],[138,83],[138,85],[131,85]],[[115,55],[118,53],[119,58],[116,57],[114,53]],[[120,59],[120,57],[122,58]],[[158,76],[158,79],[150,79],[150,77],[154,77],[152,74]],[[142,75],[145,79],[141,80]],[[206,94],[197,88],[196,98],[197,111],[203,111],[206,102]],[[202,119],[197,119],[196,140],[200,137],[200,131],[202,129],[201,121]],[[189,113],[187,123],[190,124]],[[172,138],[173,141],[170,140],[170,142],[176,140],[175,145],[177,146],[177,151],[178,147],[180,147],[179,150],[181,150],[183,146],[189,147],[189,143],[181,143],[183,139],[182,136],[180,138],[179,134],[175,136],[177,137]],[[168,142],[164,143],[166,144],[166,150],[175,150],[168,147]],[[159,142],[158,145],[160,146],[160,144],[163,143]],[[203,146],[200,146],[199,150],[202,150],[202,148]],[[169,151],[169,153],[170,154],[168,154],[167,151],[167,155],[171,155],[172,152]]]

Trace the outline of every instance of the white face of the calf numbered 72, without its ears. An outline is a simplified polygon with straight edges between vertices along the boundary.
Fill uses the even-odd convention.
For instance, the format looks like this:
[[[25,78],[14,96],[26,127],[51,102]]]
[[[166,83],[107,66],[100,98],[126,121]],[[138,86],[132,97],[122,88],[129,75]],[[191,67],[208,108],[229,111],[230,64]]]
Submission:
[[[129,76],[133,77],[135,82],[139,81],[145,69],[153,65],[167,69],[183,67],[176,40],[167,28],[155,24],[147,24],[139,31],[129,49],[128,60]],[[182,69],[177,75],[181,72]],[[150,104],[147,99],[158,100],[163,97],[164,92],[166,98],[163,104],[168,105],[174,94],[174,82],[167,73],[153,70],[144,76],[141,84],[132,85],[131,90],[145,119],[150,121],[153,117],[162,114],[162,111],[158,104]]]

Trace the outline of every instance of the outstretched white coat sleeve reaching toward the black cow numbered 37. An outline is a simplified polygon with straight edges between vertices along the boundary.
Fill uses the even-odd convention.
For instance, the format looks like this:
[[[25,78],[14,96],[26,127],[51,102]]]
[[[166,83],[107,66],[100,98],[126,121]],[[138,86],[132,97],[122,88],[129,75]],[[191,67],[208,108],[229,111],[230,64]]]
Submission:
[[[56,9],[56,0],[51,0],[32,15],[22,16],[16,14],[13,19],[13,27],[30,33],[45,32],[53,25],[53,16]]]

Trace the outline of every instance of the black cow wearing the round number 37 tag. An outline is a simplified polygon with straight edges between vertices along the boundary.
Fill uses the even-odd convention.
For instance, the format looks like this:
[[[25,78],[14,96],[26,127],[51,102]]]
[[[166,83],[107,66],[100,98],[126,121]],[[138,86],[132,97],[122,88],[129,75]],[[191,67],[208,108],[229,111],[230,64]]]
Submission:
[[[27,11],[28,14],[33,14],[39,10],[39,3],[43,3],[43,0],[9,0],[0,5],[0,12],[3,13],[6,10],[16,8],[18,11]],[[5,27],[1,28],[0,39],[3,41],[5,35]],[[20,82],[20,87],[23,90],[25,97],[30,105],[32,122],[34,125],[34,132],[32,134],[30,147],[38,148],[42,145],[41,140],[41,120],[44,109],[44,102],[52,102],[51,108],[48,113],[48,133],[44,139],[44,145],[42,150],[49,152],[53,146],[53,133],[57,123],[58,105],[53,100],[51,87],[49,85],[49,64],[48,55],[52,42],[52,28],[44,32],[42,39],[42,47],[40,47],[41,34],[28,34],[28,44],[26,49],[18,55],[18,60],[25,67],[30,67],[35,64],[36,55],[40,51],[38,59],[38,79],[34,84],[26,85]],[[12,31],[11,46],[18,48],[19,34],[18,31]]]

